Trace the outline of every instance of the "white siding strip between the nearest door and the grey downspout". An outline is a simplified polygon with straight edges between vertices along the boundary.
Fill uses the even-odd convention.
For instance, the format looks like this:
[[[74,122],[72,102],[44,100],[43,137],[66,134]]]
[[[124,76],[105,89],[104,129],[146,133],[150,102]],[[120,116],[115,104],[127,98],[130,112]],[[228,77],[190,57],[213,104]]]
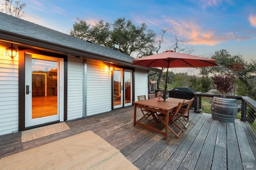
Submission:
[[[68,57],[68,120],[83,116],[83,61]]]

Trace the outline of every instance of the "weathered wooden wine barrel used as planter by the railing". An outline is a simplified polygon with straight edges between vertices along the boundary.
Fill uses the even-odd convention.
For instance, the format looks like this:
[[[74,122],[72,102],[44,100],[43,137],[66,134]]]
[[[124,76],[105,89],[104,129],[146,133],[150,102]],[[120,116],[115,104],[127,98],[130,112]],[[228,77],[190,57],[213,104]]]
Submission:
[[[212,119],[233,123],[237,115],[236,99],[217,98],[212,101]]]

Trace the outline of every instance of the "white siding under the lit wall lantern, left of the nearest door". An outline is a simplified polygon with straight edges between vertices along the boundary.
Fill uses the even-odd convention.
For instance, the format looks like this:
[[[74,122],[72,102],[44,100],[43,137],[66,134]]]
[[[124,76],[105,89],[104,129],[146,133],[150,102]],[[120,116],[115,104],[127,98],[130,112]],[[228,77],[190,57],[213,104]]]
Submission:
[[[0,135],[18,131],[18,55],[0,46]]]

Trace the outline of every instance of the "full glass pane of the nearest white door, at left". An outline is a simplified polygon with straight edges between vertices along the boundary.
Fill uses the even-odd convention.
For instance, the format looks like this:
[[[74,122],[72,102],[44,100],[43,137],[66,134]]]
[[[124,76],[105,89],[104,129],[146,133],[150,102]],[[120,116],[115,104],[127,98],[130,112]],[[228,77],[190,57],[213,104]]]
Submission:
[[[58,65],[32,59],[32,119],[57,115]]]

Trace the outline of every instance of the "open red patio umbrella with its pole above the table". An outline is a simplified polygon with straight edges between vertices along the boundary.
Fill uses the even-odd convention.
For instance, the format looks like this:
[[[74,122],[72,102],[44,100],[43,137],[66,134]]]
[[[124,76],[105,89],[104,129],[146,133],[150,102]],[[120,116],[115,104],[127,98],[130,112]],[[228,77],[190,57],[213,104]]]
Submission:
[[[204,66],[218,66],[214,59],[207,59],[204,57],[198,57],[195,55],[188,55],[183,53],[176,53],[175,51],[164,51],[163,53],[149,55],[140,59],[132,60],[132,64],[144,66],[144,67],[163,67],[167,68],[196,68]],[[167,75],[165,81],[165,92],[167,89]]]

